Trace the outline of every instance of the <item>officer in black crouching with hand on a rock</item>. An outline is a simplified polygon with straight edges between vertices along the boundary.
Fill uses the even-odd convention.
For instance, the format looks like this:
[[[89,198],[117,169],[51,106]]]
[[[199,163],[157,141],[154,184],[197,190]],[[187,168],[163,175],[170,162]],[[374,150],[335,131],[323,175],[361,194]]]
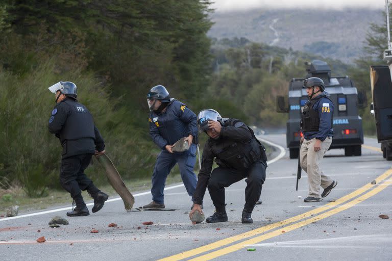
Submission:
[[[260,198],[267,167],[264,146],[256,139],[252,129],[242,121],[223,119],[212,109],[199,113],[198,125],[209,139],[204,146],[202,168],[193,195],[194,206],[189,217],[195,211],[202,213],[201,204],[208,187],[216,212],[206,222],[227,221],[225,187],[247,178],[241,222],[253,223],[251,214]],[[214,158],[218,167],[211,172]]]

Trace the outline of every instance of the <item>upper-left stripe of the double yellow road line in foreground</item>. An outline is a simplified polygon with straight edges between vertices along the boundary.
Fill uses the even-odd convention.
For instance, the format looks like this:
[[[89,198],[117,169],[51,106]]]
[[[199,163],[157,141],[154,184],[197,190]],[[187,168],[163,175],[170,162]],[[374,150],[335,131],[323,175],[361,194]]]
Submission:
[[[387,170],[382,175],[377,177],[375,179],[376,182],[377,182],[376,184],[379,184],[382,180],[386,179],[390,175],[392,175],[392,169]],[[329,210],[330,208],[332,208],[332,207],[334,207],[336,205],[342,204],[342,203],[344,203],[344,202],[346,202],[346,201],[348,201],[348,200],[350,200],[350,199],[352,199],[354,197],[357,197],[358,195],[360,195],[360,194],[364,193],[365,191],[373,188],[374,186],[375,185],[371,185],[370,183],[366,184],[363,187],[357,189],[356,191],[353,191],[350,194],[337,199],[335,202],[330,202],[328,204],[325,204],[323,206],[320,206],[320,207],[316,208],[315,210],[311,210],[311,211],[305,212],[303,214],[300,214],[298,216],[295,216],[295,217],[292,217],[292,218],[289,218],[289,219],[286,219],[286,220],[282,220],[280,222],[276,222],[276,223],[273,223],[273,224],[262,226],[262,227],[259,227],[257,229],[254,229],[254,230],[238,234],[237,236],[233,236],[233,237],[230,237],[230,238],[222,239],[222,240],[213,242],[211,244],[208,244],[208,245],[205,245],[205,246],[202,246],[202,247],[198,247],[198,248],[191,249],[191,250],[179,253],[179,254],[168,256],[168,257],[159,259],[159,261],[181,260],[181,259],[184,259],[184,258],[187,258],[187,257],[191,257],[191,256],[194,256],[194,255],[198,255],[198,254],[210,251],[210,250],[214,250],[214,249],[219,248],[219,247],[223,247],[225,245],[232,244],[234,242],[237,242],[237,241],[240,241],[240,240],[243,240],[243,239],[247,239],[247,238],[250,238],[250,237],[253,237],[253,236],[257,236],[257,234],[264,233],[264,232],[266,232],[268,230],[275,229],[275,228],[278,228],[280,226],[285,226],[285,225],[288,225],[288,224],[300,221],[302,219],[314,216],[315,214],[318,214],[318,213],[324,212],[326,210]]]

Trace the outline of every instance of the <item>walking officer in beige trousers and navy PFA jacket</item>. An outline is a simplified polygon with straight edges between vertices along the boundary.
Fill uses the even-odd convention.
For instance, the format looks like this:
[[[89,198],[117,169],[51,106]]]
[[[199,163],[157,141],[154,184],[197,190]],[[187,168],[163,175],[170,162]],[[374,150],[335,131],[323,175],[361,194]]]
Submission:
[[[337,181],[332,180],[320,169],[321,160],[329,149],[333,137],[333,102],[324,91],[322,79],[310,77],[304,81],[303,88],[309,100],[301,114],[300,162],[302,169],[308,174],[309,195],[304,202],[317,202],[328,196]],[[321,193],[320,186],[324,189]]]

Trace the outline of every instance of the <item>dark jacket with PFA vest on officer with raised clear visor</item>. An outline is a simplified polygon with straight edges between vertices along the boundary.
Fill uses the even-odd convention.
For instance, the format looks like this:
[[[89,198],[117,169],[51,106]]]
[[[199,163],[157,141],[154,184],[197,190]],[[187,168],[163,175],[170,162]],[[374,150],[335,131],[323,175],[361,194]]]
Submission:
[[[56,104],[48,127],[60,139],[63,159],[105,149],[105,142],[90,112],[75,99],[67,97]]]

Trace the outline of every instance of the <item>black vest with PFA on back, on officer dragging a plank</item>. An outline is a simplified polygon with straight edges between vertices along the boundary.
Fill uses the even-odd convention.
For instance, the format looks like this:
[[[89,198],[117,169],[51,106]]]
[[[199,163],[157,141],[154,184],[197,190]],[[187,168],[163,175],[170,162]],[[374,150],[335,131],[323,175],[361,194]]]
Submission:
[[[81,103],[66,99],[62,102],[67,103],[70,113],[60,133],[60,141],[79,140],[82,138],[95,139],[94,122],[90,112]]]

